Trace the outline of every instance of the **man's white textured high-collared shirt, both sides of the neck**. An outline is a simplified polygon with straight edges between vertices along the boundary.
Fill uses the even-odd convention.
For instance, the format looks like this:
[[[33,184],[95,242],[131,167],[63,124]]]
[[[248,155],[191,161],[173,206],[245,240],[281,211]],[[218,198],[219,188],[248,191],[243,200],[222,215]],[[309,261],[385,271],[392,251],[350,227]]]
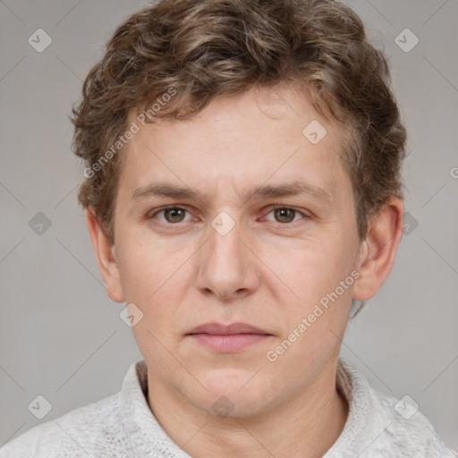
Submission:
[[[408,398],[374,390],[342,359],[336,385],[350,410],[323,458],[458,457]],[[131,364],[119,393],[31,428],[4,445],[0,458],[190,458],[157,422],[147,393],[147,367],[140,360]]]

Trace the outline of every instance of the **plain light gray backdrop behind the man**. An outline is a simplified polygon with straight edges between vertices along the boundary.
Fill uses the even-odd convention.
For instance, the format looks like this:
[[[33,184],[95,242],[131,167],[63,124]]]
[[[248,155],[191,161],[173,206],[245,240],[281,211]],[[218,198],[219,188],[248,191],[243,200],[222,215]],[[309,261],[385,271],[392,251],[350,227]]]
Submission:
[[[405,203],[415,219],[392,275],[348,327],[342,355],[375,388],[409,394],[458,449],[458,2],[347,3],[389,57],[409,131]],[[119,391],[141,358],[119,318],[123,305],[106,296],[76,203],[81,164],[68,114],[106,38],[144,4],[0,0],[0,445],[40,422],[28,410],[38,394],[52,404],[41,421],[52,420]],[[53,40],[42,53],[28,43],[38,28]],[[408,53],[394,42],[405,28],[420,39]],[[51,221],[41,234],[29,225],[38,212]]]

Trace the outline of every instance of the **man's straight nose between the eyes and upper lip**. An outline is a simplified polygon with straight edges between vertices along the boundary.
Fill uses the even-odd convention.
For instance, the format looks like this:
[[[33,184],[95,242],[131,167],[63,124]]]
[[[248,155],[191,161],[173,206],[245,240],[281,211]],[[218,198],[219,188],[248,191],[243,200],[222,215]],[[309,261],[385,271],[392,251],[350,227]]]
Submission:
[[[225,302],[254,293],[260,283],[259,259],[251,252],[254,247],[241,224],[235,223],[228,233],[209,227],[208,235],[208,242],[199,250],[199,291]]]

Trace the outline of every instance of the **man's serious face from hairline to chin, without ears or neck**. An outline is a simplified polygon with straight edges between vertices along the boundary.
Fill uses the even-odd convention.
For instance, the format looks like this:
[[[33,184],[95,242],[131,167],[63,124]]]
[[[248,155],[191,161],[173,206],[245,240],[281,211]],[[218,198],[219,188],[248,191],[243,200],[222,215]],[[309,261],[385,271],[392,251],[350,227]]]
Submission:
[[[302,133],[316,121],[321,140],[316,123]],[[332,379],[360,262],[341,153],[335,125],[286,89],[220,98],[133,137],[114,257],[120,299],[143,313],[133,333],[149,383],[203,411],[224,395],[250,415]]]

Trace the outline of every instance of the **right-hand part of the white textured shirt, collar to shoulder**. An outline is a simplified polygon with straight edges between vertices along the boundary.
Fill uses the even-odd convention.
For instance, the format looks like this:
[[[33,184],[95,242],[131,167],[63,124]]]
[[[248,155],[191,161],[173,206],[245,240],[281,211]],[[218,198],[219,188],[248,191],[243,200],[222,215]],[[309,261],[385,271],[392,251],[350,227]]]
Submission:
[[[337,386],[347,399],[350,411],[344,431],[327,458],[458,458],[411,396],[397,399],[373,389],[359,369],[342,359],[338,365]]]

